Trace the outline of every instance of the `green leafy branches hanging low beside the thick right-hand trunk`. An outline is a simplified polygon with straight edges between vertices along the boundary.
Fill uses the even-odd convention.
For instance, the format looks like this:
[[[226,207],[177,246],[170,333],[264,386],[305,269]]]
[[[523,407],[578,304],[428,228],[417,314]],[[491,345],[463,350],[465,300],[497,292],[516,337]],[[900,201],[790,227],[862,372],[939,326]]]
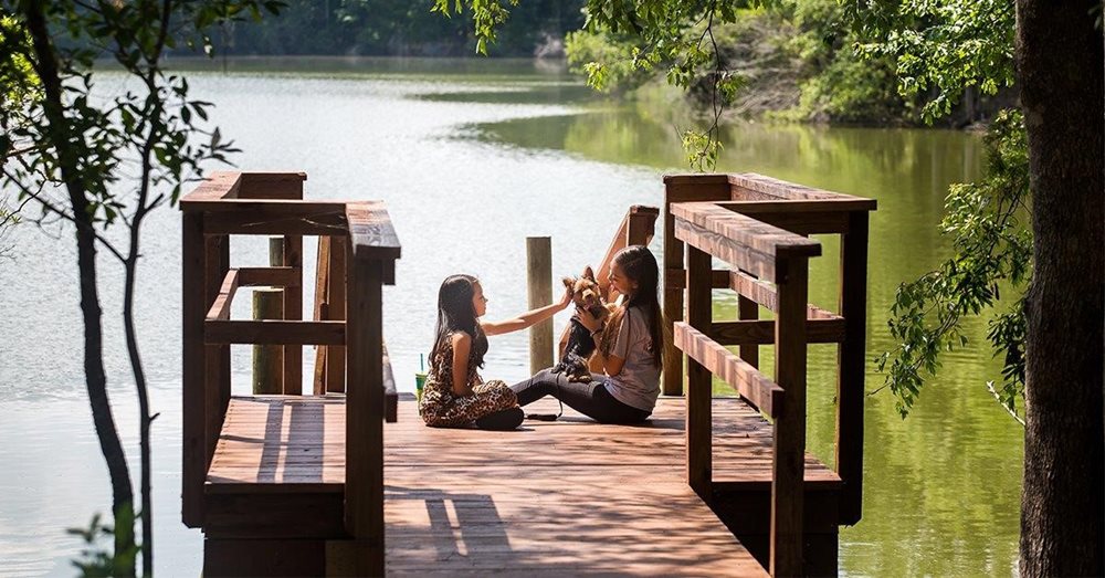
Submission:
[[[1004,112],[986,137],[987,177],[955,185],[947,197],[943,234],[955,255],[937,270],[898,287],[888,325],[901,345],[876,358],[886,371],[884,387],[897,398],[905,417],[916,401],[924,376],[936,376],[939,355],[968,345],[964,320],[997,309],[1002,286],[1012,305],[990,319],[988,338],[1003,359],[1002,383],[988,387],[1014,417],[1023,409],[1024,298],[1031,276],[1032,238],[1029,212],[1029,162],[1023,118]],[[888,365],[888,369],[887,369]]]

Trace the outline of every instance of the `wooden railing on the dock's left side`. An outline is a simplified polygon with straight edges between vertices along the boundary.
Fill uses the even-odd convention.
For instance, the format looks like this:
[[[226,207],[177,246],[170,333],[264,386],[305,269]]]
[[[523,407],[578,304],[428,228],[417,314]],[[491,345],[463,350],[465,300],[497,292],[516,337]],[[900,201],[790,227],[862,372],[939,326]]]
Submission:
[[[377,201],[304,201],[303,174],[215,172],[180,201],[183,212],[182,517],[203,526],[204,482],[230,401],[230,344],[284,345],[284,393],[302,395],[302,346],[344,347],[345,523],[355,574],[383,571],[383,420],[394,380],[383,347],[381,291],[394,283],[400,244]],[[230,269],[230,235],[284,237],[284,266]],[[304,322],[303,235],[344,256],[333,276],[348,298],[341,316]],[[346,267],[346,265],[348,265]],[[236,320],[238,287],[284,287],[284,318]],[[330,293],[333,295],[333,293]],[[335,379],[337,377],[335,376]],[[347,385],[347,387],[346,387]],[[316,388],[317,391],[317,388]],[[393,419],[393,413],[389,416]]]

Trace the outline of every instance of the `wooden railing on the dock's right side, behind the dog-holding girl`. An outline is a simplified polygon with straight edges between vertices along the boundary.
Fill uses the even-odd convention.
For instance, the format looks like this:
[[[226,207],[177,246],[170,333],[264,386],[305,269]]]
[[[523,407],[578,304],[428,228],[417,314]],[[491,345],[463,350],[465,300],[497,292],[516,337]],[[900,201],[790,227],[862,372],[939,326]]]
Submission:
[[[839,344],[839,519],[854,524],[861,515],[867,211],[875,202],[751,174],[664,182],[664,308],[677,348],[665,357],[663,388],[681,393],[685,353],[687,479],[699,494],[711,492],[713,374],[775,420],[769,570],[801,574],[808,344]],[[812,233],[842,235],[839,314],[808,303],[809,259],[821,254],[820,243],[804,237]],[[733,270],[714,271],[712,258]],[[738,294],[738,320],[714,320],[713,288]],[[760,306],[776,318],[759,320]],[[758,369],[758,346],[769,344],[774,379]],[[739,345],[739,355],[727,345]]]

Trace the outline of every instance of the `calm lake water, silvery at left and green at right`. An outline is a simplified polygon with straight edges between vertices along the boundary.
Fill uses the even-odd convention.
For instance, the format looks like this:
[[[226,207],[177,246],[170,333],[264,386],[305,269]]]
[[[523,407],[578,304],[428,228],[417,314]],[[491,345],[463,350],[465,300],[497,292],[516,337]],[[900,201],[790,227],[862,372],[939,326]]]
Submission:
[[[242,170],[305,171],[312,199],[383,199],[403,244],[383,293],[397,379],[413,389],[428,351],[438,285],[477,275],[488,317],[525,309],[525,238],[552,238],[554,274],[598,264],[630,204],[661,206],[662,176],[686,172],[677,95],[596,97],[558,63],[373,59],[178,62],[192,96],[234,139]],[[103,73],[99,94],[124,80]],[[920,129],[738,123],[725,127],[717,170],[755,171],[878,200],[871,218],[869,359],[893,348],[886,328],[899,283],[949,255],[939,235],[949,183],[983,167],[976,135]],[[218,167],[211,167],[218,168]],[[65,528],[109,511],[106,467],[82,372],[76,251],[59,224],[17,228],[0,259],[0,576],[71,576],[82,547]],[[118,237],[120,230],[110,232]],[[811,299],[834,309],[836,243],[820,239]],[[315,262],[314,242],[305,263]],[[154,411],[158,574],[197,576],[202,537],[180,523],[180,214],[150,217],[137,324]],[[659,237],[652,249],[659,253]],[[101,252],[105,358],[112,401],[137,480],[137,401],[120,323],[122,270]],[[263,239],[236,240],[231,261],[264,264]],[[306,272],[308,279],[313,271]],[[312,296],[306,292],[306,309]],[[727,292],[715,315],[734,316]],[[249,299],[233,315],[249,316]],[[567,314],[556,317],[557,330]],[[945,354],[908,419],[888,390],[867,398],[863,519],[840,535],[840,571],[854,576],[1015,574],[1023,431],[986,389],[1000,364],[985,346]],[[979,345],[981,344],[981,345]],[[528,338],[492,338],[485,378],[527,376]],[[304,359],[313,361],[311,350]],[[765,362],[767,362],[765,360]],[[765,367],[770,367],[765,365]],[[835,349],[810,350],[810,451],[832,459]],[[234,387],[249,389],[250,349],[234,349]],[[309,370],[309,368],[308,368]],[[305,375],[311,375],[305,372]],[[866,388],[883,376],[867,365]],[[724,390],[719,389],[719,392]],[[657,537],[657,545],[660,544]]]

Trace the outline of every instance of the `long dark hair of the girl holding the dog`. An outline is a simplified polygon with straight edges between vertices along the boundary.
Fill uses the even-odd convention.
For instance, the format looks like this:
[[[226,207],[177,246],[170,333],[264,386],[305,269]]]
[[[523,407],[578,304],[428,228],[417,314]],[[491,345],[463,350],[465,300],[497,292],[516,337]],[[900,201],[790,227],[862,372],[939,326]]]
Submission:
[[[652,251],[644,245],[630,245],[614,253],[613,262],[630,281],[636,283],[636,291],[628,296],[623,306],[614,312],[602,333],[599,349],[610,355],[614,339],[625,312],[636,308],[649,319],[649,336],[652,338],[652,359],[657,367],[664,365],[664,314],[660,308],[660,267]]]

